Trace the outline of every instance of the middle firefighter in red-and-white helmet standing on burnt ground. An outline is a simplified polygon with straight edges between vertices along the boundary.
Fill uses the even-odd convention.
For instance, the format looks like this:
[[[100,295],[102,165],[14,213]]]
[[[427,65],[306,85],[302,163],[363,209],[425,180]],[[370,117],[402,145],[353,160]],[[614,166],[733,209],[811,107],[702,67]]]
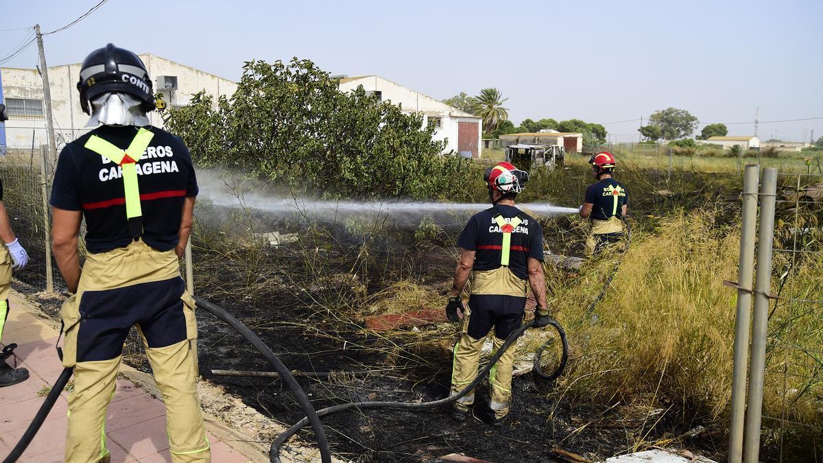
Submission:
[[[485,179],[492,207],[477,213],[468,221],[458,239],[460,258],[454,274],[446,316],[460,320],[462,330],[454,345],[454,365],[451,395],[458,395],[477,376],[481,349],[489,332],[494,329],[496,351],[509,334],[517,330],[526,310],[528,287],[532,288],[537,308],[535,326],[549,323],[546,307],[546,278],[543,275],[543,232],[540,223],[514,206],[517,194],[523,191],[528,173],[508,162],[500,162],[486,171]],[[468,307],[463,306],[460,293],[472,275],[472,291]],[[489,373],[489,407],[473,407],[474,391],[451,405],[451,415],[463,421],[472,413],[484,423],[500,424],[509,414],[512,392],[514,348],[500,357]]]

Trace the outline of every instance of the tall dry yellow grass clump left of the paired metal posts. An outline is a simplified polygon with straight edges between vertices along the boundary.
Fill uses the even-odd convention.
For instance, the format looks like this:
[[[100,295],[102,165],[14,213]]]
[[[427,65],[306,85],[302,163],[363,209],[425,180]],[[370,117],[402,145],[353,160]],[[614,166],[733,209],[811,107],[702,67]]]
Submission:
[[[732,378],[738,234],[718,229],[708,213],[664,219],[638,236],[593,316],[611,260],[593,265],[579,288],[589,297],[558,298],[574,361],[562,388],[602,403],[677,404],[690,413],[722,413]],[[581,303],[582,302],[582,303]]]

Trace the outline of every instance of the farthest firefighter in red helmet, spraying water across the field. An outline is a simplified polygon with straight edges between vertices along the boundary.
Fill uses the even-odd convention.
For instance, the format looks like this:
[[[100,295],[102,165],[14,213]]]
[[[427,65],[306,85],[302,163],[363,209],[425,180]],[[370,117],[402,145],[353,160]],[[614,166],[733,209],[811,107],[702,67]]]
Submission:
[[[586,254],[592,256],[623,237],[624,221],[629,212],[629,194],[625,186],[611,178],[616,166],[611,152],[598,152],[588,163],[592,165],[597,183],[586,189],[580,217],[591,217],[592,220],[592,234],[586,241]]]

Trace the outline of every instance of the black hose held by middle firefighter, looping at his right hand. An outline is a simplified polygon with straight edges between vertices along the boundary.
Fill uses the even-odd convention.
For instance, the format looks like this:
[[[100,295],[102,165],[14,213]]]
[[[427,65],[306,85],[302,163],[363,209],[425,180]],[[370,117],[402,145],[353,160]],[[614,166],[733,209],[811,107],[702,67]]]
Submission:
[[[551,339],[548,341],[548,343],[544,344],[543,347],[541,347],[537,351],[537,354],[535,355],[534,364],[535,368],[537,368],[538,377],[553,381],[557,378],[557,376],[560,376],[560,373],[563,372],[563,368],[565,368],[566,360],[569,358],[569,345],[566,343],[565,331],[562,327],[560,327],[560,324],[557,323],[557,321],[554,319],[552,319],[549,323],[550,325],[554,326],[558,334],[560,334],[560,342],[563,344],[563,357],[560,360],[560,366],[557,368],[557,371],[552,375],[546,375],[545,373],[540,371],[540,367],[538,366],[538,362],[540,362],[540,356],[542,355],[543,348],[546,347],[546,344],[552,342]],[[514,331],[514,333],[509,334],[509,337],[506,338],[503,345],[500,346],[500,348],[497,349],[497,352],[495,352],[495,354],[491,356],[489,362],[486,364],[486,367],[483,368],[481,372],[477,374],[477,377],[474,378],[474,381],[472,381],[468,384],[468,386],[463,388],[463,391],[460,391],[458,395],[452,395],[444,399],[432,400],[430,402],[350,402],[348,404],[332,405],[331,407],[325,409],[319,409],[317,410],[317,416],[323,417],[327,414],[333,414],[335,412],[339,412],[345,409],[351,409],[354,407],[358,409],[430,409],[433,407],[439,407],[441,405],[450,404],[453,401],[463,397],[463,395],[467,395],[469,391],[472,391],[478,384],[480,384],[480,381],[482,381],[483,378],[486,377],[486,375],[491,371],[491,368],[495,366],[495,363],[497,363],[497,361],[500,360],[500,357],[503,356],[503,353],[505,353],[506,349],[508,349],[509,346],[514,344],[514,342],[517,341],[517,339],[523,333],[525,333],[526,330],[531,328],[532,325],[534,325],[534,320],[529,321],[524,325],[521,325],[520,328]],[[269,458],[271,459],[272,463],[282,463],[280,460],[280,446],[284,442],[289,440],[292,436],[294,436],[298,431],[300,431],[300,429],[305,427],[306,423],[309,423],[308,418],[301,419],[294,426],[287,429],[286,432],[281,433],[280,436],[277,436],[277,439],[275,439],[274,442],[272,442],[272,447],[269,450]]]

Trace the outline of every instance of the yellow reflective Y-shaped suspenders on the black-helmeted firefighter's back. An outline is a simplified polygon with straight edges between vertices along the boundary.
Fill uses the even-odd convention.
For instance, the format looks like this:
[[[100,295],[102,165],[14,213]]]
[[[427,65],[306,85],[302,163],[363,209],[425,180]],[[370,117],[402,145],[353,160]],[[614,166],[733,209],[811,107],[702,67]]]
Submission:
[[[106,157],[123,169],[123,195],[126,199],[126,218],[128,218],[128,229],[134,238],[142,235],[142,208],[140,208],[140,187],[137,185],[137,161],[146,151],[146,147],[154,138],[154,133],[150,130],[140,129],[134,136],[132,143],[128,144],[125,150],[115,147],[112,143],[105,141],[97,135],[92,135],[86,141],[86,148],[96,152],[100,156]]]

